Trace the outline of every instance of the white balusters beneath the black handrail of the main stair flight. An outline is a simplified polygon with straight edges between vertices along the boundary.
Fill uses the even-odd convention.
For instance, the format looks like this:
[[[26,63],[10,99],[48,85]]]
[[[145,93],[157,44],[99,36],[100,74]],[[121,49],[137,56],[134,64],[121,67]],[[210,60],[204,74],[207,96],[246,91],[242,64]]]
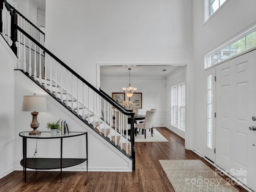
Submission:
[[[20,30],[22,31],[22,29]],[[19,36],[21,35],[19,34]],[[45,88],[54,98],[59,99],[61,102],[63,101],[64,106],[73,111],[74,114],[87,121],[94,129],[109,138],[110,142],[120,147],[120,150],[131,155],[131,140],[128,135],[130,128],[127,125],[128,115],[123,114],[116,108],[113,114],[113,105],[106,98],[99,98],[97,96],[99,91],[88,86],[84,82],[85,80],[77,74],[74,75],[75,72],[55,56],[48,54],[46,51],[42,55],[41,50],[44,48],[38,49],[39,45],[32,44],[33,40],[27,40],[27,38],[25,36],[23,40],[24,42],[29,42],[28,47],[24,49],[22,43],[18,46],[18,52],[22,53],[20,55],[24,55],[18,58],[24,64],[20,69],[25,69],[24,72],[28,72],[28,76],[38,81],[38,84],[40,82],[44,83]],[[36,52],[35,50],[39,51]],[[66,95],[64,96],[66,100],[62,100],[63,94]],[[84,101],[87,102],[85,103]],[[103,117],[101,114],[102,109]],[[84,115],[85,110],[87,116]],[[118,123],[115,120],[117,112],[119,115]]]

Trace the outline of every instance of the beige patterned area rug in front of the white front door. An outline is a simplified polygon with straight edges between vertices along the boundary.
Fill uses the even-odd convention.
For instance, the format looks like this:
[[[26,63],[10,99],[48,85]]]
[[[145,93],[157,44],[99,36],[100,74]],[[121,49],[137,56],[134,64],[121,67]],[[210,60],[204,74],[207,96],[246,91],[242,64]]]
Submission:
[[[175,192],[238,192],[201,160],[159,160]]]

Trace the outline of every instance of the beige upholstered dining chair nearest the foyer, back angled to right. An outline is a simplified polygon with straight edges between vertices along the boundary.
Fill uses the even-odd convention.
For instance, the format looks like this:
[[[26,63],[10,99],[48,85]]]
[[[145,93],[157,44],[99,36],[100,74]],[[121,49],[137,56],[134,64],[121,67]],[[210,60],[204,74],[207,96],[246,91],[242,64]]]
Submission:
[[[137,129],[142,129],[142,132],[144,130],[144,135],[146,139],[146,129],[151,130],[151,136],[153,136],[153,119],[154,115],[156,113],[156,110],[147,110],[146,116],[145,116],[145,122],[136,124],[135,126],[135,136],[137,136]]]

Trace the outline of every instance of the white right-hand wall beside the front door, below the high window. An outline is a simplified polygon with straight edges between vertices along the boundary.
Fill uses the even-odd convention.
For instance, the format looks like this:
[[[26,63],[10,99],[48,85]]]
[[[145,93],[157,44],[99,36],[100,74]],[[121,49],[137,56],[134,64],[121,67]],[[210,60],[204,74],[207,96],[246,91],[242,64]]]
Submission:
[[[204,1],[193,1],[193,60],[190,75],[190,148],[204,151],[206,129],[206,91],[204,54],[256,21],[255,0],[230,0],[204,24]],[[202,138],[202,139],[198,139]]]

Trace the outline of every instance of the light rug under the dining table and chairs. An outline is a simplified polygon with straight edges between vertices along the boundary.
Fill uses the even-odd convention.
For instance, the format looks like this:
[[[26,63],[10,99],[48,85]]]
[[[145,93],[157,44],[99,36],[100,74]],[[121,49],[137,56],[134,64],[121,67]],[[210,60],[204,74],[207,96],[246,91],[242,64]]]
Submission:
[[[158,132],[158,130],[153,128],[153,137],[151,136],[151,132],[146,130],[146,139],[144,134],[142,135],[142,131],[140,130],[139,133],[137,133],[137,136],[134,135],[135,142],[168,142],[168,140]]]

